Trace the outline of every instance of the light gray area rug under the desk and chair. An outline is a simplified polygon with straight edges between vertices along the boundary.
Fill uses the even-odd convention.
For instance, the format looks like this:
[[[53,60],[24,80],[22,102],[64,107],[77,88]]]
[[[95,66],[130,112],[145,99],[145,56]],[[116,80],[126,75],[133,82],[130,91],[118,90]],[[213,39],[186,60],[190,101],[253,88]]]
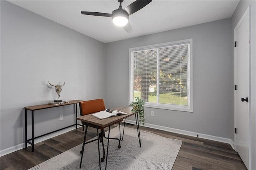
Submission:
[[[121,130],[122,130],[121,126]],[[108,132],[106,132],[106,136]],[[110,130],[110,137],[119,138],[119,127]],[[95,137],[96,138],[96,137]],[[140,130],[141,147],[137,129],[125,127],[124,140],[118,148],[117,140],[109,140],[108,170],[170,170],[180,150],[182,140],[165,138],[150,132]],[[107,142],[104,138],[105,150]],[[82,161],[83,170],[99,170],[98,142],[94,141],[84,147]],[[30,170],[79,170],[82,144],[63,152],[34,166]],[[102,143],[100,143],[100,157],[102,157]],[[101,169],[105,169],[105,162],[101,162]]]

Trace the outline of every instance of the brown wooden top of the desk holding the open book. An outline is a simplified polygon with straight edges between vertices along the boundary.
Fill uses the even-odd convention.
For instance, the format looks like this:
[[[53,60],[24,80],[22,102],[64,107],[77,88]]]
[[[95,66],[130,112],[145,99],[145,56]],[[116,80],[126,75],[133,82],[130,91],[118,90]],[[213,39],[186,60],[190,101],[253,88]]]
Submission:
[[[132,112],[132,107],[116,107],[114,108],[114,110],[118,110],[118,111],[122,111],[125,113],[128,113],[127,115],[120,115],[120,116],[113,116],[110,118],[106,118],[106,119],[98,119],[96,117],[93,117],[91,114],[89,115],[84,115],[81,117],[77,117],[76,119],[82,122],[87,122],[93,125],[97,125],[100,127],[108,127],[110,125],[114,125],[116,123],[119,123],[120,121],[122,121],[123,119],[130,117],[132,115],[134,115],[135,113]]]

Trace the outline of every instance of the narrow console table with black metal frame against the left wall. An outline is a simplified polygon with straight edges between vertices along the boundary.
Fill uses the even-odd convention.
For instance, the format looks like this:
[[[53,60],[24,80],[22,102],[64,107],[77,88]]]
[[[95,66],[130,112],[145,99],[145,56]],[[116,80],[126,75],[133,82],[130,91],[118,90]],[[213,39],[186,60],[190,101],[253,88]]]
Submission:
[[[42,136],[50,134],[50,133],[53,133],[53,132],[57,132],[58,130],[62,130],[64,128],[72,127],[74,125],[76,125],[76,128],[77,128],[77,125],[80,125],[80,124],[77,124],[77,120],[76,120],[76,124],[74,124],[74,125],[70,125],[68,127],[64,127],[64,128],[55,130],[53,132],[49,132],[47,134],[43,134],[43,135],[34,137],[34,111],[42,110],[42,109],[48,109],[48,108],[52,108],[52,107],[62,107],[62,106],[66,106],[66,105],[75,105],[76,106],[76,117],[77,117],[77,103],[79,103],[79,102],[81,102],[81,100],[72,100],[72,101],[69,101],[68,103],[61,104],[61,105],[45,104],[45,105],[36,105],[36,106],[24,107],[25,108],[25,148],[28,147],[28,143],[29,143],[29,144],[32,145],[32,152],[34,152],[34,139],[42,137]],[[32,124],[32,138],[31,139],[28,139],[28,134],[27,134],[28,133],[27,132],[27,110],[31,111],[31,122],[32,122],[31,123]],[[80,126],[82,126],[82,125],[80,125]],[[30,142],[30,140],[32,140],[32,142]]]

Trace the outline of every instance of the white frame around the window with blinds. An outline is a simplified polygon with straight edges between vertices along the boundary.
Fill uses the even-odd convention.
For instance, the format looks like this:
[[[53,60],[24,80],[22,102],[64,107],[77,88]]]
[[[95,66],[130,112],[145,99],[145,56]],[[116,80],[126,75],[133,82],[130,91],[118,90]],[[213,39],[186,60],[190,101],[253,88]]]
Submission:
[[[172,104],[162,104],[162,103],[149,103],[146,102],[144,107],[150,107],[150,108],[157,108],[157,109],[166,109],[166,110],[174,110],[174,111],[185,111],[185,112],[193,112],[193,39],[186,39],[186,40],[178,40],[174,42],[167,42],[167,43],[159,43],[154,45],[146,45],[141,47],[133,47],[129,49],[129,105],[132,102],[131,101],[131,95],[133,95],[133,83],[131,82],[131,78],[133,79],[133,69],[131,69],[131,65],[133,66],[133,59],[131,56],[131,53],[133,51],[140,51],[140,50],[147,50],[147,49],[158,49],[160,47],[166,47],[171,45],[179,45],[189,43],[190,47],[190,61],[189,61],[189,71],[188,71],[188,79],[190,82],[190,89],[189,89],[189,100],[190,105],[189,106],[182,106],[182,105],[172,105]],[[158,61],[157,61],[158,62]],[[159,65],[158,68],[159,69]],[[131,87],[132,86],[132,87]]]

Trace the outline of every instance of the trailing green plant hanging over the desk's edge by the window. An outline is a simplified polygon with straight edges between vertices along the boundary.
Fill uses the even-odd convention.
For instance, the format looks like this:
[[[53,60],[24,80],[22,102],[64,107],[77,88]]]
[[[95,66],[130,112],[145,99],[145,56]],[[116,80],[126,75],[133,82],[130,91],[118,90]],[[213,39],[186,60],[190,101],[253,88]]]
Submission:
[[[144,104],[146,101],[140,99],[139,97],[135,97],[135,101],[133,101],[130,105],[133,107],[132,112],[138,113],[139,114],[139,123],[140,125],[144,125]]]

